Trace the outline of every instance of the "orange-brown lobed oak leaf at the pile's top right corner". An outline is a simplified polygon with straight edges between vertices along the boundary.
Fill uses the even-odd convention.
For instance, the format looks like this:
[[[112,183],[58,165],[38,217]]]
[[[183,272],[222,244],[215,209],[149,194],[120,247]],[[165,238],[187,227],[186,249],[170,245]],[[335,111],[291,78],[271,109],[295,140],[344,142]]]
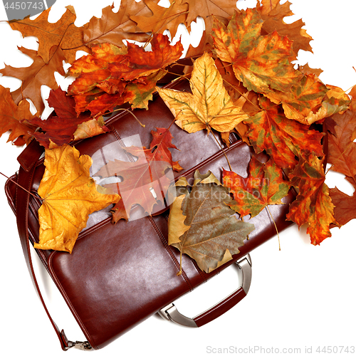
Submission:
[[[263,19],[262,33],[272,33],[277,31],[281,36],[288,36],[293,41],[293,52],[295,57],[298,51],[313,52],[310,41],[313,40],[311,36],[305,31],[303,26],[305,23],[299,19],[293,23],[286,23],[285,18],[293,16],[293,11],[290,11],[290,2],[286,1],[280,4],[280,0],[262,0],[262,5],[257,3],[256,9]],[[293,58],[294,59],[294,58]],[[296,58],[295,58],[296,59]]]

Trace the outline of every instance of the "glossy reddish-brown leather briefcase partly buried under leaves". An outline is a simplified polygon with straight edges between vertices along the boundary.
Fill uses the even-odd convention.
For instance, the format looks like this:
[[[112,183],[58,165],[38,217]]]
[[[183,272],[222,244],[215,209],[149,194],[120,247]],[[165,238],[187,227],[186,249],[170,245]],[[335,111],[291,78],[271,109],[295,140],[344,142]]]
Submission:
[[[188,85],[180,80],[172,88],[188,90]],[[135,110],[135,115],[146,125],[145,128],[138,125],[130,113],[120,112],[106,121],[105,125],[110,132],[76,142],[75,147],[81,155],[95,156],[95,153],[98,155],[103,147],[112,142],[123,145],[125,137],[137,134],[140,135],[142,146],[149,147],[151,130],[155,127],[169,127],[174,120],[158,96],[150,103],[149,108]],[[227,169],[226,158],[212,135],[206,135],[203,131],[189,134],[174,124],[170,131],[174,137],[174,145],[179,148],[179,151],[172,152],[173,159],[178,160],[183,167],[181,172],[174,173],[175,179],[182,176],[189,179],[197,169],[201,173],[210,170],[221,179],[221,167]],[[253,150],[237,136],[231,135],[230,140],[231,145],[225,146],[224,150],[231,167],[234,172],[246,176]],[[221,145],[224,145],[223,142]],[[35,193],[44,172],[43,159],[40,159],[42,153],[43,147],[36,141],[31,142],[19,157],[19,173],[11,177],[19,185]],[[260,154],[258,159],[266,161],[268,157]],[[38,201],[11,180],[6,183],[6,194],[17,216],[23,252],[38,289],[29,250],[29,243],[38,242]],[[290,192],[283,199],[286,204],[271,206],[278,231],[291,224],[286,221],[286,214],[293,199],[293,192]],[[240,248],[240,253],[233,256],[232,261],[211,273],[205,273],[192,258],[183,255],[180,276],[177,276],[180,266],[179,251],[167,243],[168,214],[168,209],[161,206],[152,216],[128,222],[120,220],[117,224],[112,224],[108,209],[98,211],[90,216],[73,253],[36,250],[87,337],[86,342],[68,341],[43,303],[63,350],[73,346],[83,349],[105,347],[155,313],[175,323],[201,327],[244,298],[251,280],[251,260],[248,253],[276,235],[276,227],[267,211],[262,211],[249,221],[254,224],[255,230]],[[221,303],[192,319],[185,317],[174,307],[174,300],[236,262],[243,273],[241,286]],[[39,290],[38,293],[43,302]]]

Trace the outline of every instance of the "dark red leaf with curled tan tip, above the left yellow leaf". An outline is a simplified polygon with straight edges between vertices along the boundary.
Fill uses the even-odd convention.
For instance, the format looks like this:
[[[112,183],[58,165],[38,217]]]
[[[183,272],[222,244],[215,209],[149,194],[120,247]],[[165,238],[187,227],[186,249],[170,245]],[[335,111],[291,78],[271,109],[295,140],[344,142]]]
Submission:
[[[54,148],[109,131],[103,117],[98,120],[88,114],[77,117],[75,100],[61,88],[51,90],[48,105],[55,109],[56,115],[50,115],[47,120],[33,119],[33,125],[42,129],[42,132],[35,132],[33,137],[43,147]]]

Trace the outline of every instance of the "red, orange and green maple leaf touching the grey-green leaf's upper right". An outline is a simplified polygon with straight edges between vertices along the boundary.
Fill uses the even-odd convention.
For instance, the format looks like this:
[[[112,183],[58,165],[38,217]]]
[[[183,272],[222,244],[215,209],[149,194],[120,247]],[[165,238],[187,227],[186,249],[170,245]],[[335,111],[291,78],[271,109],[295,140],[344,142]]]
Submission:
[[[266,206],[283,204],[290,184],[283,180],[283,172],[273,162],[262,163],[252,156],[248,164],[248,177],[241,177],[235,172],[223,168],[223,183],[234,196],[228,205],[241,216],[258,215]]]

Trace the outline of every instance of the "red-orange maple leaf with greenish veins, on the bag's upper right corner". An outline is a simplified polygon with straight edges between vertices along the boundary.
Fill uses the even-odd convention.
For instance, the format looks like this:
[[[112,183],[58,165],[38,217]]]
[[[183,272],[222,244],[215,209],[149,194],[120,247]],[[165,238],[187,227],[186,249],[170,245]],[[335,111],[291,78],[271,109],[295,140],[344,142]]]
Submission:
[[[263,110],[244,121],[249,127],[246,135],[256,153],[266,150],[278,167],[291,169],[298,162],[295,156],[315,152],[323,157],[323,133],[287,119],[283,110],[267,98],[261,97],[259,102]]]

